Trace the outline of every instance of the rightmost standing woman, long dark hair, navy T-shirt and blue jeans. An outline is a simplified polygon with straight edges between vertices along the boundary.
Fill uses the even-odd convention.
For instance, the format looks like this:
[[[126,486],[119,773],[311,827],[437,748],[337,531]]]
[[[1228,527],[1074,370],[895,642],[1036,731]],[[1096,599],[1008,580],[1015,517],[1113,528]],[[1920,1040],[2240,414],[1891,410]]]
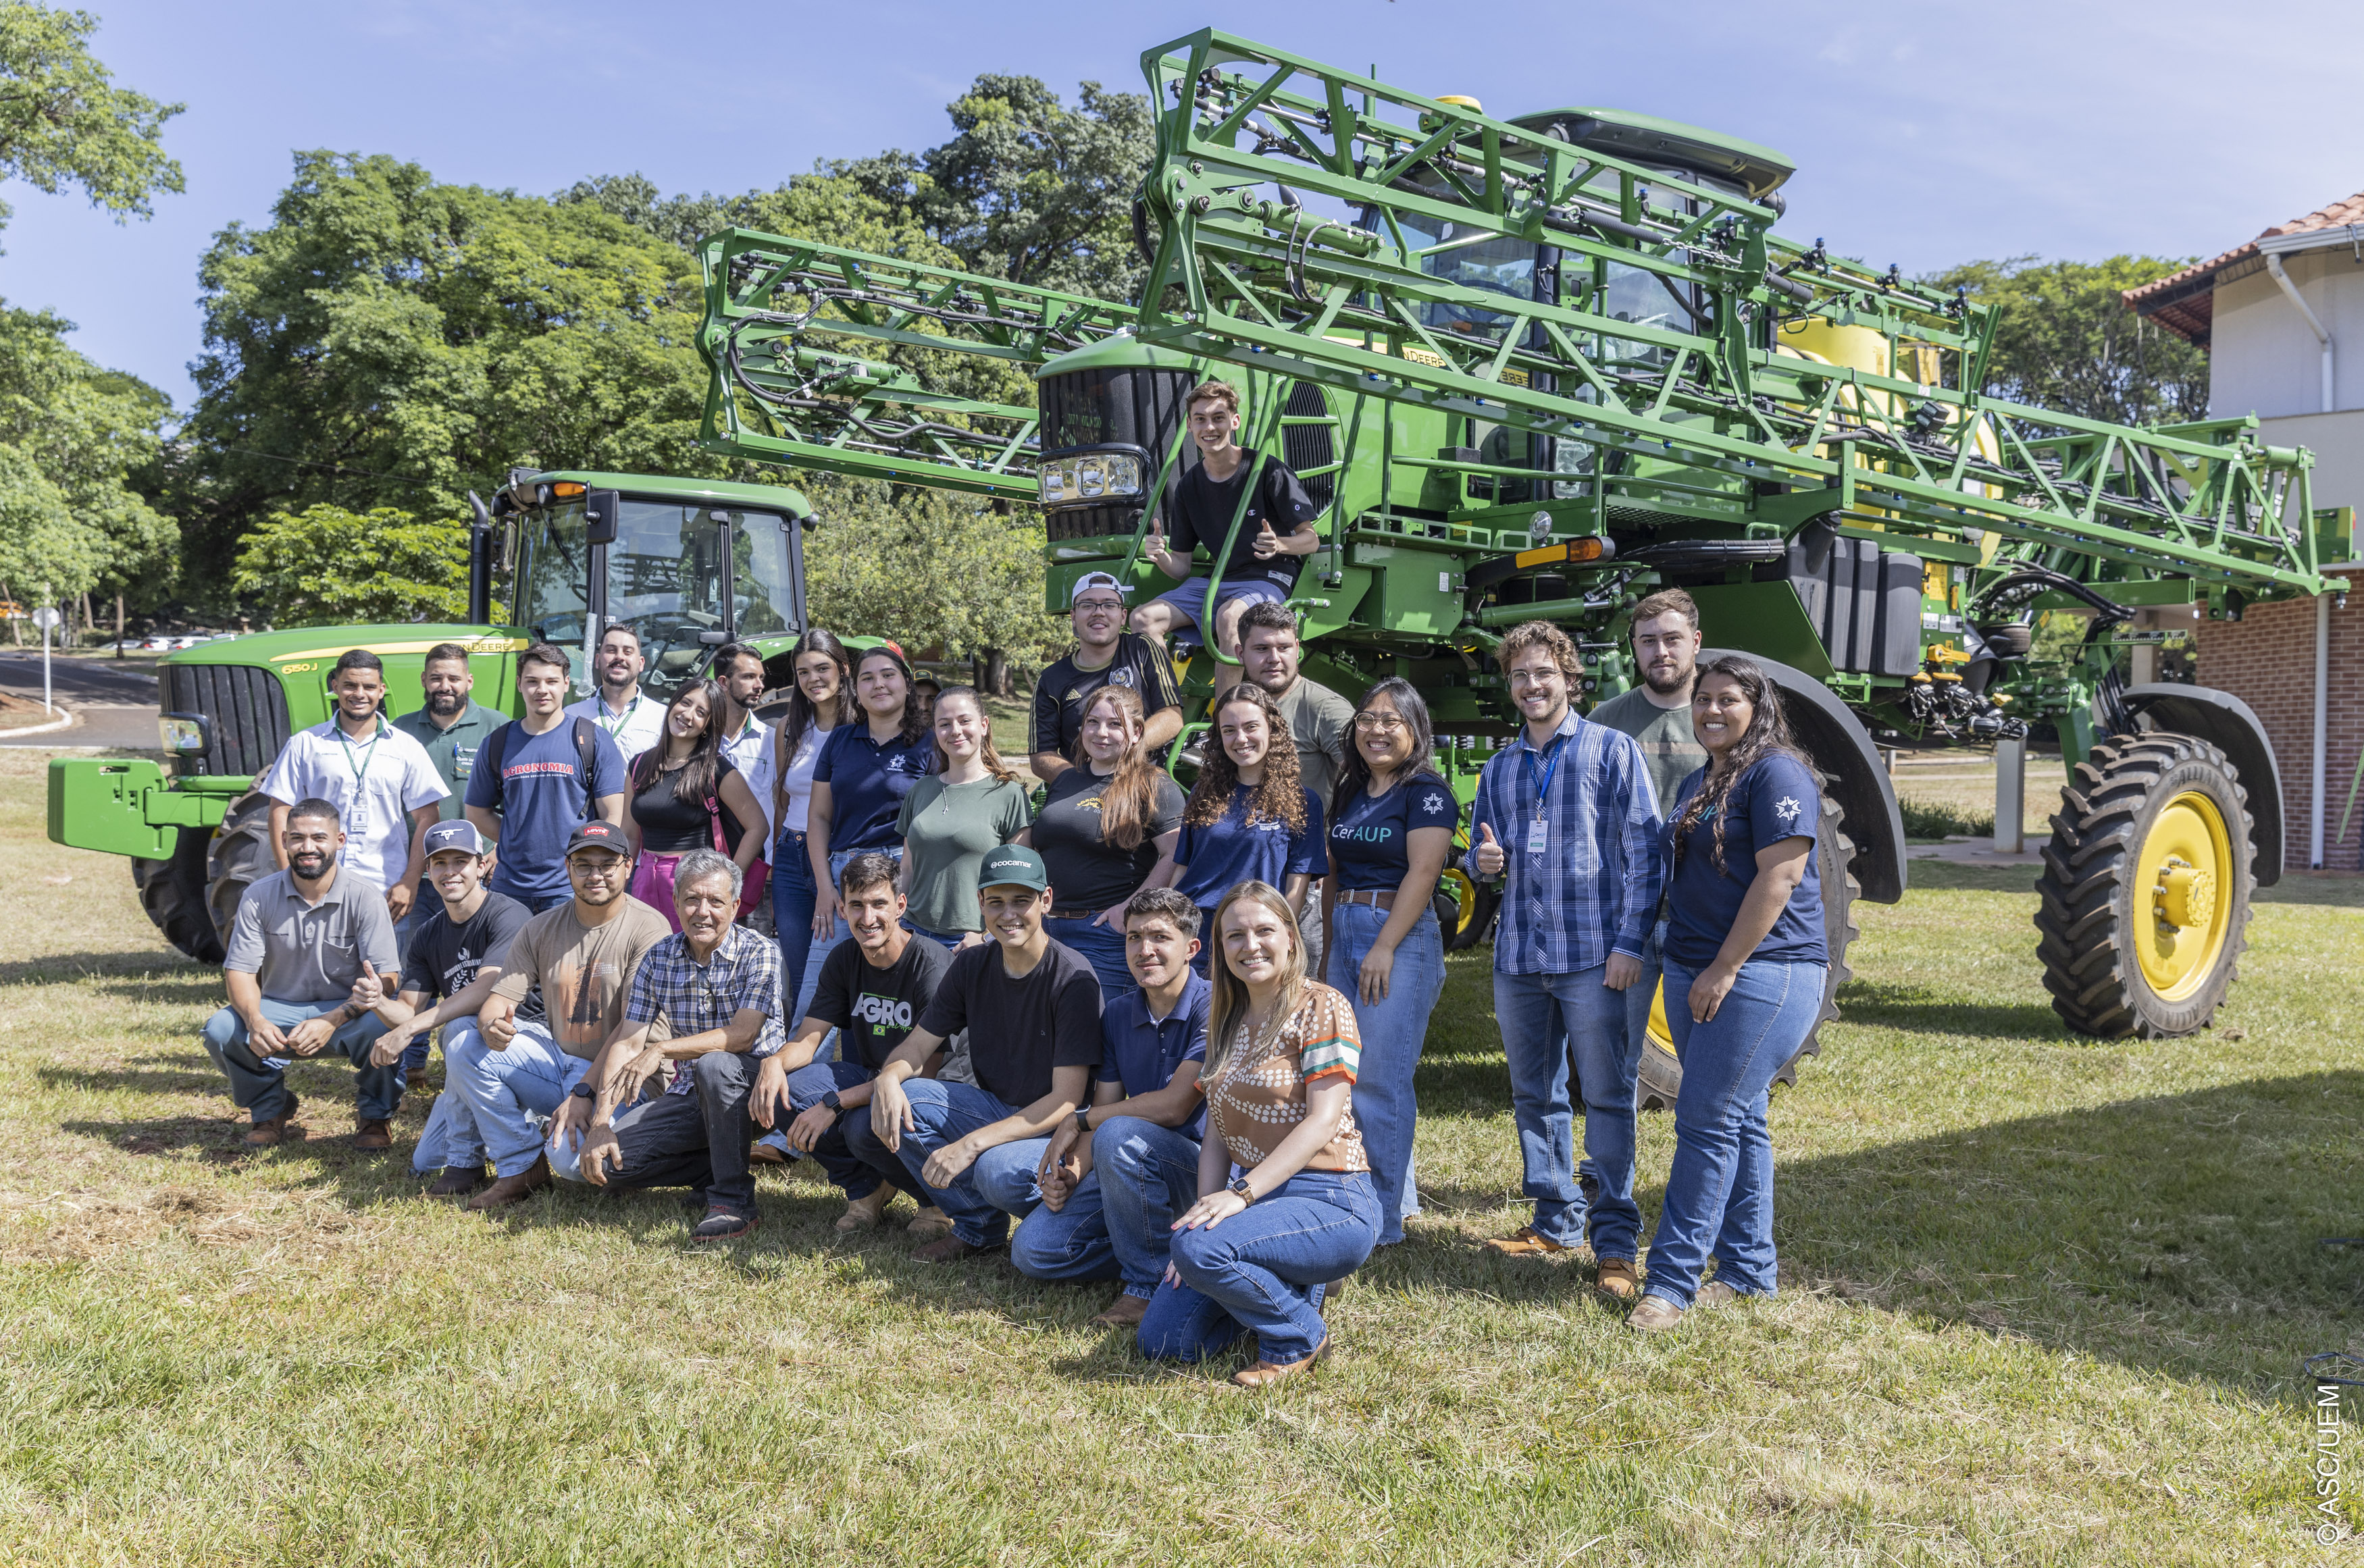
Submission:
[[[1726,655],[1700,672],[1690,724],[1707,766],[1667,814],[1667,1026],[1683,1088],[1650,1284],[1626,1317],[1645,1334],[1690,1308],[1773,1294],[1766,1100],[1823,1017],[1830,970],[1813,866],[1823,792],[1790,740],[1780,688]],[[1709,1249],[1716,1277],[1702,1289]]]

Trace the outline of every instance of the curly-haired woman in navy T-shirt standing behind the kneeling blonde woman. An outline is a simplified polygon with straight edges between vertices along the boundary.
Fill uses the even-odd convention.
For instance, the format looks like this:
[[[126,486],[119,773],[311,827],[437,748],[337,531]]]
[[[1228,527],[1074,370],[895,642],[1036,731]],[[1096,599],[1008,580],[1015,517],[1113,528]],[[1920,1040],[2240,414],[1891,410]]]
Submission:
[[[1196,903],[1213,932],[1213,911],[1241,882],[1269,882],[1305,911],[1307,885],[1329,873],[1321,849],[1321,802],[1298,783],[1298,745],[1281,705],[1241,681],[1215,700],[1215,745],[1182,806],[1182,840],[1165,885]],[[1208,974],[1215,944],[1194,967]]]

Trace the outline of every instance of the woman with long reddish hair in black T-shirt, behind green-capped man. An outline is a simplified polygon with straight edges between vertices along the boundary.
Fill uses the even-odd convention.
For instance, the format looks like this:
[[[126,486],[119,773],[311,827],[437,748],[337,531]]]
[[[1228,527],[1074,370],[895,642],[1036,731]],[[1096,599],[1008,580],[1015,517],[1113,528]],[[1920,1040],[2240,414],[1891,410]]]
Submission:
[[[1035,825],[1019,835],[1050,875],[1043,929],[1085,955],[1104,1007],[1139,989],[1125,967],[1125,901],[1182,835],[1182,785],[1149,754],[1147,724],[1132,686],[1095,691],[1076,733],[1076,766],[1052,776]]]

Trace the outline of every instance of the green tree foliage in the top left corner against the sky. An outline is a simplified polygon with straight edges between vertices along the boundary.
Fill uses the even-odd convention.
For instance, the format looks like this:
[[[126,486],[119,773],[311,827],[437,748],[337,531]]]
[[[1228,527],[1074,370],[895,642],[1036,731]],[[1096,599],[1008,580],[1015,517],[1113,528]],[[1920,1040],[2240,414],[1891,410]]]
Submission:
[[[90,12],[0,5],[0,180],[52,196],[80,187],[118,222],[147,218],[149,196],[182,189],[161,140],[182,104],[116,88],[90,52],[97,28]],[[0,201],[0,225],[9,210]]]

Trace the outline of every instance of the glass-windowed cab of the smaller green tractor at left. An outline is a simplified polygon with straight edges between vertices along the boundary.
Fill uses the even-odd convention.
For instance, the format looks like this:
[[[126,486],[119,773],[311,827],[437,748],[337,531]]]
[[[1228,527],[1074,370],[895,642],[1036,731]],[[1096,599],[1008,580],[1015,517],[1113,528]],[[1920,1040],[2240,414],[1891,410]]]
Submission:
[[[631,627],[650,695],[669,698],[723,643],[806,627],[804,532],[816,520],[794,490],[667,480],[648,494],[629,475],[515,471],[489,511],[487,544],[511,587],[504,620],[586,653],[610,624]],[[589,691],[591,679],[584,657],[577,683]]]

